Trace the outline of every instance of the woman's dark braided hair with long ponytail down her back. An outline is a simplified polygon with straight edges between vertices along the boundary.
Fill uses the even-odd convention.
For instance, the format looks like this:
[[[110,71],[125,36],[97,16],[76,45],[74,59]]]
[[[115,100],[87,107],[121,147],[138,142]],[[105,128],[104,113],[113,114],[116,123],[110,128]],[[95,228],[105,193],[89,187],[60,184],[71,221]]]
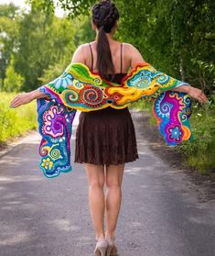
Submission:
[[[112,32],[112,28],[117,19],[119,11],[111,0],[103,0],[91,8],[92,21],[99,29],[97,35],[97,68],[104,79],[109,79],[108,71],[114,73],[112,53],[105,33]]]

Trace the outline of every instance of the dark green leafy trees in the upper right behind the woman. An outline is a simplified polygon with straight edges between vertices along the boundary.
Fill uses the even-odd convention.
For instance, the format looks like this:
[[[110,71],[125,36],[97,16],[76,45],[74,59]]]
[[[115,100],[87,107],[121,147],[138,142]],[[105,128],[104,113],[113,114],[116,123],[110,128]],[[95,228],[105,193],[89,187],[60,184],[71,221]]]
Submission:
[[[33,5],[48,6],[44,0],[30,0]],[[88,14],[91,0],[58,0],[70,11],[70,17]],[[134,44],[145,61],[158,70],[198,86],[211,94],[214,84],[215,2],[214,0],[115,0],[120,10],[117,38]],[[139,11],[141,10],[141,11]],[[88,30],[87,30],[88,31]],[[207,71],[199,63],[210,65]]]

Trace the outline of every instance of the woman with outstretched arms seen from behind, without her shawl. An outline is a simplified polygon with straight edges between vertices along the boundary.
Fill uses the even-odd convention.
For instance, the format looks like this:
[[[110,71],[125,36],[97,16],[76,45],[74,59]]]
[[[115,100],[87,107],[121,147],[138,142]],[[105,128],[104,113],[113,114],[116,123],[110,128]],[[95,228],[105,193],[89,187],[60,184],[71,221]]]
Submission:
[[[131,67],[145,60],[133,45],[113,39],[119,12],[111,1],[95,4],[91,14],[96,40],[81,45],[75,51],[72,62],[81,62],[102,78],[121,83]],[[174,90],[188,93],[201,103],[207,102],[204,93],[192,86],[182,85]],[[10,106],[21,106],[41,97],[45,95],[38,90],[17,95]],[[88,176],[89,206],[97,240],[94,252],[102,256],[117,255],[114,234],[122,201],[124,163],[138,158],[132,117],[127,107],[81,112],[76,135],[75,161],[84,162]]]

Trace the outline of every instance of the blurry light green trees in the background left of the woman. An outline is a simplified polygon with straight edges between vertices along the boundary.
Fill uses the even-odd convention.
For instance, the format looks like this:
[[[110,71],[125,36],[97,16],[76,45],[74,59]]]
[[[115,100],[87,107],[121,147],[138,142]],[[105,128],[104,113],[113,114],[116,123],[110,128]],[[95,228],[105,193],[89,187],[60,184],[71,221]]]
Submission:
[[[70,63],[80,44],[95,39],[90,17],[70,20],[55,17],[53,12],[40,13],[36,7],[41,3],[37,1],[28,14],[19,12],[13,5],[0,6],[2,90],[30,91],[48,79],[53,80]],[[13,62],[10,56],[14,57]]]

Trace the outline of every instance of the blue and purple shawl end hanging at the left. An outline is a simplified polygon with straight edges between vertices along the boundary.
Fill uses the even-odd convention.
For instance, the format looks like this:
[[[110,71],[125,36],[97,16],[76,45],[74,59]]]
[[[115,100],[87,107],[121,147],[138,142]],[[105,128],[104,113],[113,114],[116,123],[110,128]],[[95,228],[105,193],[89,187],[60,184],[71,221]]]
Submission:
[[[66,106],[39,99],[38,130],[43,139],[39,145],[38,166],[48,178],[71,171],[70,137],[75,113],[76,110],[69,111]]]

